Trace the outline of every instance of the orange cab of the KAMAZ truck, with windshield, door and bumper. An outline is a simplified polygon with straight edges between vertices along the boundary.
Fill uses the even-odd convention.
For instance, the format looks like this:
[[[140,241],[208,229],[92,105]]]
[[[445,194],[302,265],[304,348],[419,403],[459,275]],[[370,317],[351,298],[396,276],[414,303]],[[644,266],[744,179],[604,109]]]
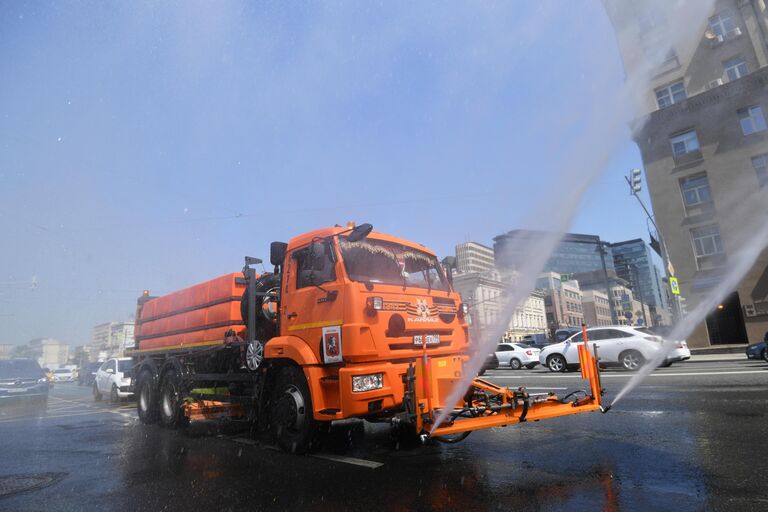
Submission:
[[[429,249],[358,228],[313,231],[287,244],[265,361],[301,367],[316,420],[386,416],[402,407],[414,358],[466,352],[464,312]]]

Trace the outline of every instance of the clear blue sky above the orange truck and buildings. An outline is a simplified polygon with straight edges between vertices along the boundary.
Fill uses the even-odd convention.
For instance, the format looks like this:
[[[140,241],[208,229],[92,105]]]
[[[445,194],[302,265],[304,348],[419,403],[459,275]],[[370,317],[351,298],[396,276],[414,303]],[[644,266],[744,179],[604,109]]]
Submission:
[[[546,228],[580,173],[572,231],[647,238],[629,134],[573,147],[621,115],[612,29],[562,6],[0,4],[0,343],[87,342],[348,220],[441,256]]]

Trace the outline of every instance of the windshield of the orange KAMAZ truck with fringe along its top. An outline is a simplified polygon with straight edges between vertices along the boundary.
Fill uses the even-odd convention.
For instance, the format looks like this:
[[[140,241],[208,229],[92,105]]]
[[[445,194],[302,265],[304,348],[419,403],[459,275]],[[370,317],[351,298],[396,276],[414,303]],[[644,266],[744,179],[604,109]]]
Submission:
[[[373,238],[351,242],[339,237],[339,245],[353,281],[449,290],[440,264],[431,254]]]

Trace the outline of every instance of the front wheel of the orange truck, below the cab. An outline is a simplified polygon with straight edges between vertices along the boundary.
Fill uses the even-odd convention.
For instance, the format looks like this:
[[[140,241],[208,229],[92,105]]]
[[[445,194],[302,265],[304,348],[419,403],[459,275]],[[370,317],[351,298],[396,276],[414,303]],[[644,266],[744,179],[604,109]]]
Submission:
[[[316,441],[318,430],[307,379],[295,366],[279,371],[272,390],[270,430],[283,450],[306,453]]]

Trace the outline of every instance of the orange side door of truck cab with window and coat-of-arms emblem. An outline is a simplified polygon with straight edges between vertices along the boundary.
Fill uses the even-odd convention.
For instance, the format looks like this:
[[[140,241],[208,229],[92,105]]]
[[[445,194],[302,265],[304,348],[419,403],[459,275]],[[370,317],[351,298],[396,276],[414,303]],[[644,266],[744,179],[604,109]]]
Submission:
[[[299,248],[286,258],[282,334],[302,338],[325,362],[341,362],[343,357],[340,264],[327,239]]]

